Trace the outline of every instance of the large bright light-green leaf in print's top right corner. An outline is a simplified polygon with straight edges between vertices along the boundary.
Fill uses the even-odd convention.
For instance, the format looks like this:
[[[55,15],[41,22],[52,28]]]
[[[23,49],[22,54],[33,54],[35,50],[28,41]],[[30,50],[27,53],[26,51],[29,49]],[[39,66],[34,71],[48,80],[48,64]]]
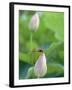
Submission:
[[[50,28],[56,34],[56,38],[64,41],[64,13],[63,12],[45,12],[43,21],[47,28]]]

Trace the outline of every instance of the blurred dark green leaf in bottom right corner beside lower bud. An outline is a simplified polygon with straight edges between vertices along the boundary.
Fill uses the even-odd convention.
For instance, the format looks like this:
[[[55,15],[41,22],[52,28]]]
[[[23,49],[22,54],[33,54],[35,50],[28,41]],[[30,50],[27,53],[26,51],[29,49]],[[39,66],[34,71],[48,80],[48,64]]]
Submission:
[[[45,77],[60,77],[64,76],[64,66],[57,63],[49,63],[47,75]]]

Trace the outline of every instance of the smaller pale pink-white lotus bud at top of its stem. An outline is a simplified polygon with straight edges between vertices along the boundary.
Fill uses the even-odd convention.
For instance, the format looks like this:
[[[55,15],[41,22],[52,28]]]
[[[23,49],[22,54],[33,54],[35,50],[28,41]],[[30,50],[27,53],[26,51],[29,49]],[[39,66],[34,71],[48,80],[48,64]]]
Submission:
[[[38,13],[35,13],[29,22],[29,29],[32,31],[36,31],[38,27],[39,27],[39,15]]]

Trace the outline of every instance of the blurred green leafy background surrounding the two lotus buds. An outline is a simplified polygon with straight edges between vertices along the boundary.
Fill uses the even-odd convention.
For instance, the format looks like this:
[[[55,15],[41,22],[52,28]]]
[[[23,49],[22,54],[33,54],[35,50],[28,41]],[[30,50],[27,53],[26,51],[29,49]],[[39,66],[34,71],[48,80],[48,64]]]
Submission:
[[[38,52],[30,52],[29,22],[38,11],[19,11],[19,79],[36,78],[33,67]],[[47,74],[43,78],[64,77],[64,13],[38,12],[40,24],[33,32],[32,48],[42,48],[47,58]]]

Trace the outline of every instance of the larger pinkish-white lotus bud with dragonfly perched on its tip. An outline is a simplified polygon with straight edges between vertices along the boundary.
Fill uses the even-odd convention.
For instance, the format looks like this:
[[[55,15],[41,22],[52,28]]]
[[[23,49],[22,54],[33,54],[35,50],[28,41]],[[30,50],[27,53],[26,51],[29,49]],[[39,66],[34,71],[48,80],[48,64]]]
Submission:
[[[35,64],[34,73],[39,78],[45,76],[46,72],[47,72],[46,56],[44,53],[41,53]]]

